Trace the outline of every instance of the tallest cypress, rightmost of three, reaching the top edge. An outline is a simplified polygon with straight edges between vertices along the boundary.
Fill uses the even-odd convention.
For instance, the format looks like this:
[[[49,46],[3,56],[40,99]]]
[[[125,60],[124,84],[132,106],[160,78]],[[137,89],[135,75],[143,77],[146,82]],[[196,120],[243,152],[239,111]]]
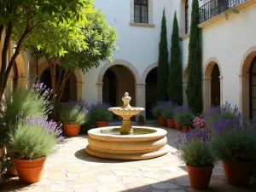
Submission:
[[[193,0],[190,38],[189,38],[189,61],[188,61],[188,85],[187,97],[189,108],[194,113],[202,111],[202,66],[201,66],[201,47],[200,47],[200,23],[198,0]]]

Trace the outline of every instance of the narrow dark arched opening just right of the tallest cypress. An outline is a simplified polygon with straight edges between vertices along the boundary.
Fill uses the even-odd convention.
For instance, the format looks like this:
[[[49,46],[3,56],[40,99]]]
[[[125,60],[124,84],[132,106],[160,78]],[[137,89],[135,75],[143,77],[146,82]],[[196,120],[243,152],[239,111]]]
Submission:
[[[220,106],[220,73],[218,64],[212,67],[212,79],[211,79],[211,106]]]

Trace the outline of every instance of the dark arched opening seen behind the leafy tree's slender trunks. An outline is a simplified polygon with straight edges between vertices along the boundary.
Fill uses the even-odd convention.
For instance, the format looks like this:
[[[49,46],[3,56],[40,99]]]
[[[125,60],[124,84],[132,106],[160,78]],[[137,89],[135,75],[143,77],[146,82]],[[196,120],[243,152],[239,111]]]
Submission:
[[[56,74],[58,79],[59,67],[56,67]],[[51,88],[51,76],[49,67],[44,70],[40,77],[40,82],[43,82],[47,87]],[[61,102],[77,101],[77,79],[74,73],[67,79],[67,83],[61,97]]]

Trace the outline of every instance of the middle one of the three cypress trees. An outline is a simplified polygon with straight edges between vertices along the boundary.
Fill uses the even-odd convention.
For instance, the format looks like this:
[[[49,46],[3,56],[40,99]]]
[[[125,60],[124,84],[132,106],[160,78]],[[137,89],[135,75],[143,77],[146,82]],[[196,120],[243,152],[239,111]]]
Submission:
[[[182,76],[183,71],[181,62],[181,51],[179,44],[177,15],[175,12],[172,26],[171,63],[168,82],[168,95],[169,100],[177,103],[178,105],[183,104]]]

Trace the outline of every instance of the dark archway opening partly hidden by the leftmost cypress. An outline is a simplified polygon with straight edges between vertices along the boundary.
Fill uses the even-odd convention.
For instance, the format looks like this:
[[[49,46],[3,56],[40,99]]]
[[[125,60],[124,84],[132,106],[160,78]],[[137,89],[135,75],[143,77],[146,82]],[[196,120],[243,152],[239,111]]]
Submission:
[[[157,101],[157,67],[149,71],[146,77],[146,116],[152,117],[151,105]]]

